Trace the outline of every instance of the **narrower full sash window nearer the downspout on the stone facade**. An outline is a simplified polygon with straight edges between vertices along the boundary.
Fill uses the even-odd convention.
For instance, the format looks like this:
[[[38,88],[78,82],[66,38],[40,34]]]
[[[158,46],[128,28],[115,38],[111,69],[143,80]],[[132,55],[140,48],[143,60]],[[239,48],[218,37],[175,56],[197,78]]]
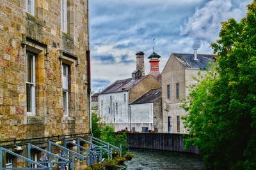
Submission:
[[[68,117],[68,66],[62,66],[63,115]]]

